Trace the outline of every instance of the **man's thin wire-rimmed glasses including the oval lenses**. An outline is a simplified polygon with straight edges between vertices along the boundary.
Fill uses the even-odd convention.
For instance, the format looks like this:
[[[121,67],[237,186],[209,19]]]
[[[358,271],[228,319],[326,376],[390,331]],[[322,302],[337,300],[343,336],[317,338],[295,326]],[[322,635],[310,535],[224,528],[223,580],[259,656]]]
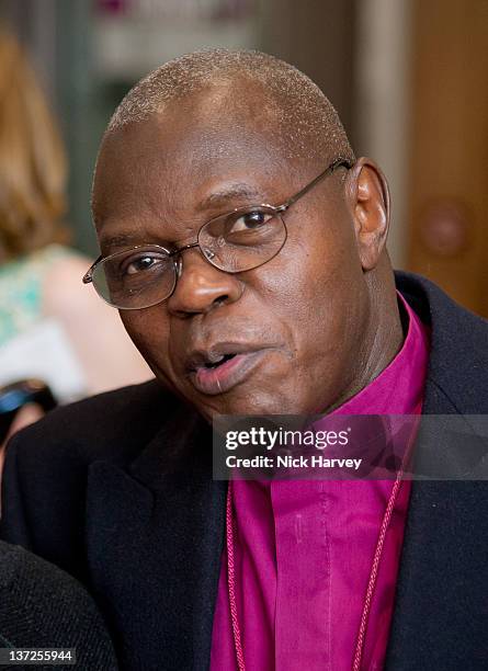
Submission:
[[[352,162],[338,158],[318,177],[282,205],[238,207],[214,217],[198,230],[196,241],[174,250],[159,244],[140,244],[100,257],[83,276],[109,305],[139,310],[171,296],[181,274],[181,254],[198,248],[205,261],[226,273],[242,273],[268,263],[286,242],[285,213],[313,186],[340,167]]]

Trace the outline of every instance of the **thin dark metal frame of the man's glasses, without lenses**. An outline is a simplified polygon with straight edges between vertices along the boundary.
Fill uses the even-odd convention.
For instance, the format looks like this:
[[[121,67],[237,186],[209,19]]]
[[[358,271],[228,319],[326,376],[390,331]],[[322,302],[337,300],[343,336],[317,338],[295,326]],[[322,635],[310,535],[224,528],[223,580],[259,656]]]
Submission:
[[[316,178],[314,178],[311,180],[311,182],[309,182],[308,184],[306,184],[303,189],[300,189],[297,193],[295,193],[293,196],[291,196],[290,198],[287,198],[284,203],[282,203],[281,205],[269,205],[265,203],[262,203],[261,205],[252,205],[249,206],[249,211],[252,212],[252,207],[256,208],[268,208],[268,209],[272,209],[274,213],[274,216],[276,215],[281,215],[285,212],[287,212],[290,209],[290,207],[292,205],[294,205],[299,198],[302,198],[305,194],[307,194],[316,184],[318,184],[319,182],[321,182],[326,177],[332,174],[338,168],[345,168],[347,170],[351,170],[351,168],[354,166],[354,161],[347,159],[347,158],[342,158],[339,157],[337,159],[334,159],[325,170],[322,170],[322,172],[320,172],[320,174],[318,174]],[[171,293],[168,294],[168,296],[166,296],[166,298],[161,298],[160,302],[152,304],[152,306],[147,306],[147,307],[154,307],[154,305],[159,305],[159,303],[162,303],[163,300],[168,300],[168,298],[171,297],[171,295],[174,293],[174,289],[177,288],[177,283],[179,277],[181,276],[181,270],[182,270],[182,259],[181,259],[181,254],[189,250],[189,249],[194,249],[195,247],[198,248],[201,255],[205,259],[205,261],[212,265],[212,268],[215,268],[219,271],[222,271],[223,273],[228,273],[231,275],[238,274],[238,273],[243,273],[243,272],[249,272],[251,270],[256,270],[258,268],[261,268],[262,265],[265,265],[266,263],[269,263],[270,261],[272,261],[275,257],[277,257],[277,254],[281,252],[281,250],[283,249],[283,247],[286,243],[287,237],[288,237],[288,231],[286,228],[286,224],[285,221],[282,219],[283,226],[285,228],[285,239],[283,240],[283,244],[280,247],[280,249],[272,255],[270,257],[270,259],[266,259],[265,261],[263,261],[262,263],[252,266],[251,269],[241,271],[241,270],[237,270],[237,271],[226,271],[222,268],[218,268],[217,265],[215,265],[214,263],[212,263],[212,260],[208,259],[208,257],[205,255],[204,251],[202,250],[200,242],[198,242],[198,238],[200,238],[200,232],[203,228],[205,228],[205,226],[207,226],[208,224],[211,224],[211,221],[214,221],[217,218],[224,217],[224,216],[231,216],[232,214],[240,212],[241,209],[245,209],[246,207],[235,207],[234,209],[229,211],[228,213],[224,213],[223,215],[217,215],[217,217],[212,217],[212,219],[208,219],[207,221],[205,221],[204,224],[202,224],[202,226],[198,228],[198,231],[196,234],[196,242],[191,242],[190,244],[184,244],[183,247],[179,247],[178,249],[174,249],[172,251],[170,251],[169,249],[166,249],[166,247],[162,247],[161,244],[136,244],[135,247],[130,247],[127,250],[121,250],[118,252],[114,252],[112,254],[109,254],[106,257],[104,257],[103,254],[100,254],[100,257],[91,264],[91,266],[88,269],[88,271],[84,273],[83,277],[82,277],[82,283],[83,284],[90,284],[93,283],[93,273],[95,271],[95,268],[99,263],[101,263],[102,261],[106,261],[107,259],[110,259],[111,257],[115,257],[116,254],[120,253],[124,253],[124,251],[132,251],[132,250],[137,250],[137,249],[141,249],[144,247],[156,247],[160,250],[162,250],[163,252],[166,252],[168,254],[169,259],[173,259],[174,257],[178,257],[177,259],[173,259],[174,261],[174,271],[175,271],[175,280],[174,280],[174,286],[171,289]],[[93,285],[94,286],[94,285]],[[95,288],[95,287],[94,287]],[[95,288],[97,291],[97,288]],[[98,293],[98,292],[97,292]],[[100,295],[100,294],[99,294]],[[100,295],[100,297],[105,300],[105,303],[107,303],[109,305],[111,305],[112,307],[115,307],[120,310],[141,310],[145,308],[133,308],[133,307],[118,307],[115,306],[113,304],[111,304],[109,300],[106,300],[103,296]]]

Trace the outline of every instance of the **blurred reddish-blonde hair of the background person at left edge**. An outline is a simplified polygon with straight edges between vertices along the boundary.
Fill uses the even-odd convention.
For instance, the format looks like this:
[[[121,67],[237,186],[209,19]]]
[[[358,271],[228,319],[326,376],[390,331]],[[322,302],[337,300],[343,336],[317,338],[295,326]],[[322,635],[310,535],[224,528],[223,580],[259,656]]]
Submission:
[[[66,157],[27,58],[0,30],[0,260],[68,237]]]

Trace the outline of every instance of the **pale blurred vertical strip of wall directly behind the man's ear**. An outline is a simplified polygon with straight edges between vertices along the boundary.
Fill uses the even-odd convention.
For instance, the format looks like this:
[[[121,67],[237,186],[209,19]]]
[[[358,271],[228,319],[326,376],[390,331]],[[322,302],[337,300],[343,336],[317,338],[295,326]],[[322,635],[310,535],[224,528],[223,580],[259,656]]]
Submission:
[[[407,181],[410,128],[411,3],[361,0],[355,32],[356,150],[386,173],[393,206],[388,251],[407,264]]]

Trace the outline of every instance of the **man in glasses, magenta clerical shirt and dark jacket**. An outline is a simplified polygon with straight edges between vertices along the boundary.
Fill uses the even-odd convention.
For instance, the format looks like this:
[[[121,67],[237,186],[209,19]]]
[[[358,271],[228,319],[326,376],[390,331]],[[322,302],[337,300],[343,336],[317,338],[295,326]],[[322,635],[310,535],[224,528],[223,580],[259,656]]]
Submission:
[[[487,323],[421,277],[397,294],[386,181],[317,87],[259,53],[159,68],[93,215],[84,282],[159,384],[14,439],[3,536],[89,585],[123,668],[486,668],[483,482],[212,480],[218,414],[488,412]]]

